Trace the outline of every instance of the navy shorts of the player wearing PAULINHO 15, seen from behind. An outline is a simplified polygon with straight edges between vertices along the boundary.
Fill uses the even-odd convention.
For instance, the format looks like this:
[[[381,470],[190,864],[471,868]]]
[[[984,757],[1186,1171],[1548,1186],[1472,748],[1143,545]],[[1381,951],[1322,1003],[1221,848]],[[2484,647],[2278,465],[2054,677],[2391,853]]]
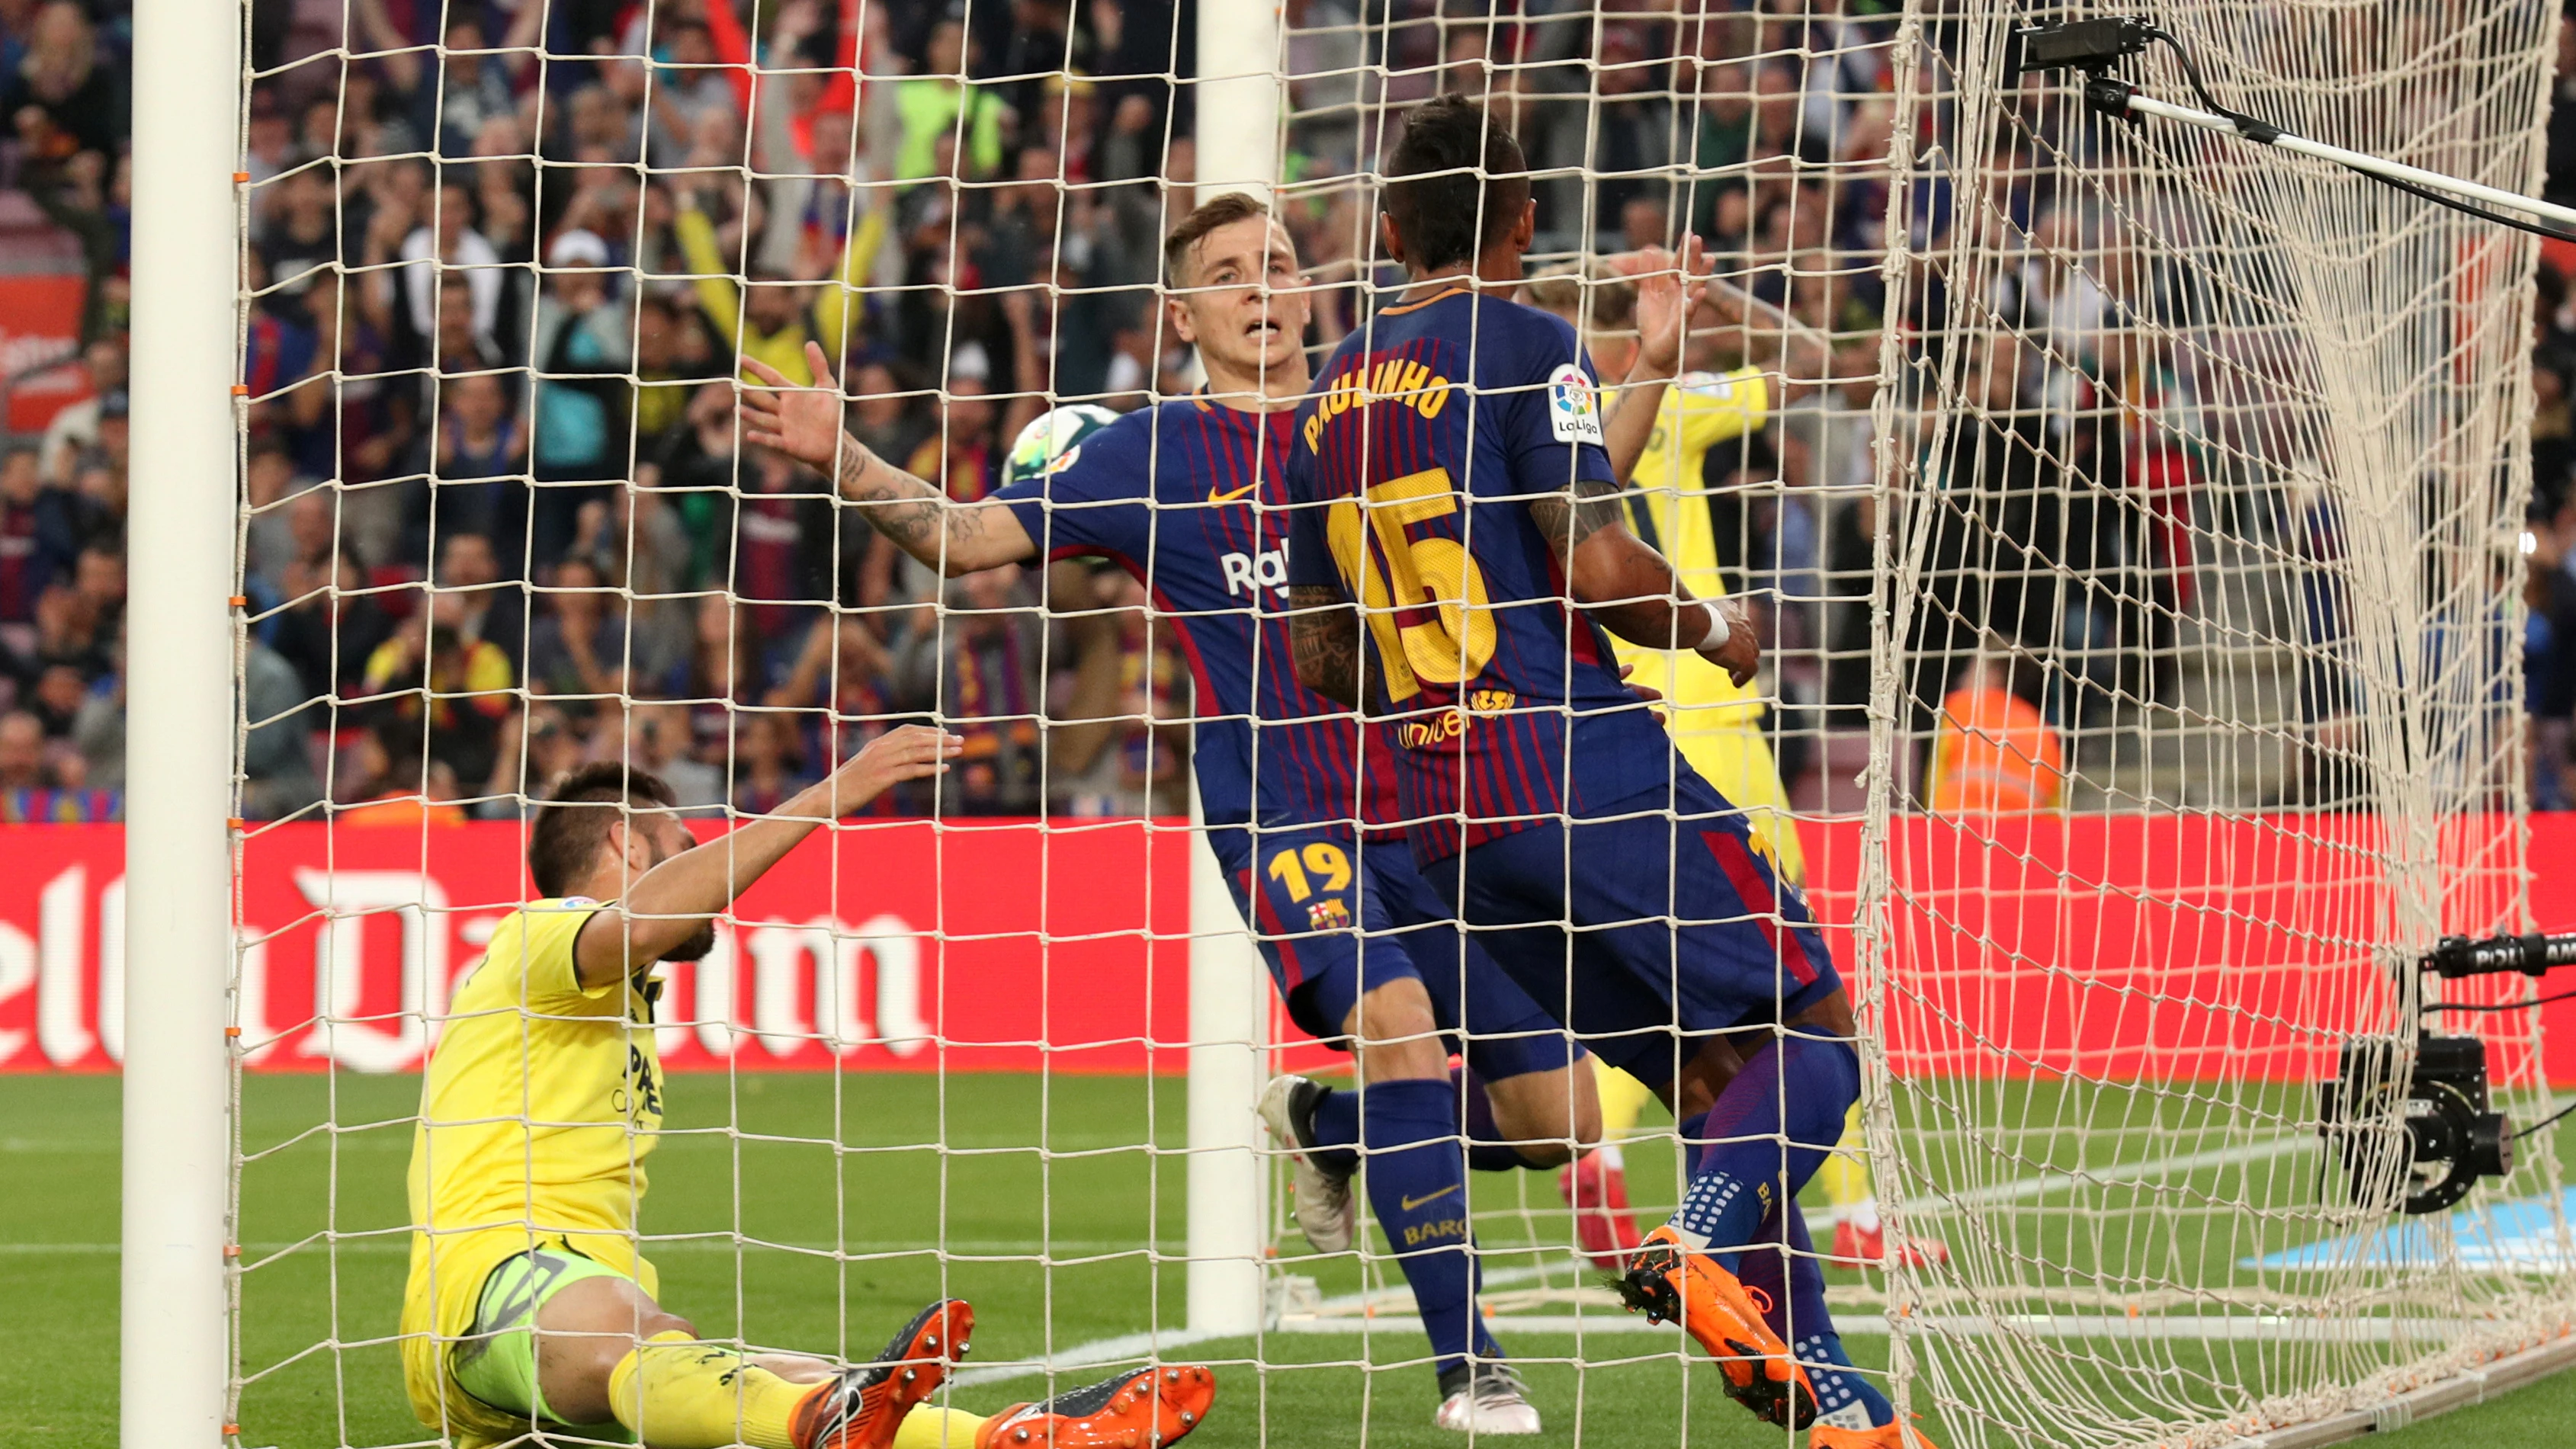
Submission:
[[[1744,813],[1687,770],[1669,800],[1540,821],[1427,867],[1533,1001],[1649,1086],[1674,1078],[1690,1037],[1780,1022],[1842,986]]]

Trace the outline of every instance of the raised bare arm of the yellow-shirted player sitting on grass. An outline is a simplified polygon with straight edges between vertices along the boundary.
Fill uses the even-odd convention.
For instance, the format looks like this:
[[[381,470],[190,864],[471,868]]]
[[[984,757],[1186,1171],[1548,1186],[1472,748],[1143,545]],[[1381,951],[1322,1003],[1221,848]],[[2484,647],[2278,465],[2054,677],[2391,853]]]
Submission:
[[[963,749],[963,739],[930,726],[886,731],[827,780],[799,790],[778,813],[636,875],[616,906],[582,921],[582,934],[572,939],[574,975],[582,986],[608,986],[662,960],[786,860],[814,826],[848,816],[891,785],[943,775]]]

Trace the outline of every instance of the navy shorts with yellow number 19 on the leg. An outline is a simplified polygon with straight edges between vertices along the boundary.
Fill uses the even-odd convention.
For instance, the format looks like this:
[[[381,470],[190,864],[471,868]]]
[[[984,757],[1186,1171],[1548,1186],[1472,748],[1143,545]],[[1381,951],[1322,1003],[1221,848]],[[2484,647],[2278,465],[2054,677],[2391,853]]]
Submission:
[[[1262,831],[1257,844],[1218,829],[1208,844],[1288,1019],[1311,1037],[1350,1050],[1342,1024],[1360,996],[1414,978],[1450,1050],[1486,1081],[1582,1058],[1556,1017],[1458,932],[1404,842],[1363,847],[1347,826],[1316,826]]]

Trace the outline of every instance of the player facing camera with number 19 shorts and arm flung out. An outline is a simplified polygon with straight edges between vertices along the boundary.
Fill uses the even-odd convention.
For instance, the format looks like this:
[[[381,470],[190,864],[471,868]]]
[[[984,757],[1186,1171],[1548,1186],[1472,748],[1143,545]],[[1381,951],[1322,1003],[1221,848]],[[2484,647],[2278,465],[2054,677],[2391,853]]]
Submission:
[[[933,569],[1079,553],[1146,584],[1198,685],[1193,767],[1208,844],[1291,1019],[1355,1045],[1365,1081],[1329,1091],[1288,1076],[1262,1096],[1298,1163],[1298,1223],[1321,1251],[1350,1246],[1347,1184],[1365,1153],[1370,1207],[1432,1338],[1437,1423],[1535,1434],[1538,1410],[1476,1313],[1466,1166],[1471,1156],[1556,1166],[1592,1145],[1592,1068],[1461,937],[1401,831],[1365,829],[1394,821],[1383,744],[1368,744],[1381,754],[1363,762],[1378,734],[1298,685],[1280,613],[1283,466],[1306,396],[1306,299],[1288,232],[1260,201],[1221,196],[1172,229],[1164,260],[1185,288],[1170,301],[1172,327],[1198,347],[1208,386],[1082,435],[987,502],[951,502],[868,453],[842,432],[837,391],[744,394],[744,432],[837,471],[868,522]],[[822,353],[809,363],[829,389]],[[786,381],[747,365],[773,389]],[[1450,1040],[1479,1081],[1453,1084]]]

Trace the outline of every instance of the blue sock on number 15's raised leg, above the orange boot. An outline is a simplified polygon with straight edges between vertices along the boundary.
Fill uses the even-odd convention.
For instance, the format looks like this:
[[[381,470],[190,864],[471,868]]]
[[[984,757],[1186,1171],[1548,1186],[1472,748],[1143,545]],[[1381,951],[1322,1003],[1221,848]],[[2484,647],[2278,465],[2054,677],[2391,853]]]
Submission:
[[[1842,1140],[1860,1099],[1860,1053],[1850,1042],[1775,1037],[1726,1084],[1698,1135],[1713,1138],[1682,1189],[1672,1228],[1736,1271],[1762,1220],[1795,1199]]]

